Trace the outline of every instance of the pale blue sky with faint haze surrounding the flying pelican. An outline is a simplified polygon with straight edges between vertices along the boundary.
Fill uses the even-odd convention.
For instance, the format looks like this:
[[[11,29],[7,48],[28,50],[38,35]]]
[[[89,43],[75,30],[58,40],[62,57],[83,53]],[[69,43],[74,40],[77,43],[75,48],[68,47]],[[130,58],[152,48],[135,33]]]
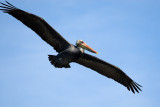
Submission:
[[[56,69],[55,50],[0,12],[0,107],[159,107],[159,0],[8,0],[44,18],[69,42],[82,39],[95,55],[143,86],[140,94],[78,64]],[[4,2],[4,0],[0,0]]]

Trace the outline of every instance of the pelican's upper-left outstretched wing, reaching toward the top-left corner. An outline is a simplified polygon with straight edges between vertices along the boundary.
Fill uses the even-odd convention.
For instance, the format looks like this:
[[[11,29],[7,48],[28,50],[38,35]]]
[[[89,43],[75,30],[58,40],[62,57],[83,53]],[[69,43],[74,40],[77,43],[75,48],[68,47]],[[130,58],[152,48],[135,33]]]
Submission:
[[[0,2],[1,3],[1,2]],[[21,21],[23,24],[31,28],[44,41],[54,47],[57,52],[61,52],[70,46],[58,32],[56,32],[44,19],[34,14],[25,12],[13,6],[6,1],[6,4],[1,3],[0,10],[8,13]]]

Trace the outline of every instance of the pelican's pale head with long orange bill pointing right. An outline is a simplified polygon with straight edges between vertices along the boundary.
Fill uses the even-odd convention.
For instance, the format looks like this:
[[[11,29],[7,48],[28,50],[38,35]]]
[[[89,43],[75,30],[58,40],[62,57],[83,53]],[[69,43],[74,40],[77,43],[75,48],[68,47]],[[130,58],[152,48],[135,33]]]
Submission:
[[[82,52],[84,52],[84,50],[88,50],[88,51],[90,51],[92,53],[98,54],[98,52],[96,52],[90,46],[88,46],[85,42],[83,42],[83,40],[77,40],[76,46],[79,47],[79,48],[81,48]]]

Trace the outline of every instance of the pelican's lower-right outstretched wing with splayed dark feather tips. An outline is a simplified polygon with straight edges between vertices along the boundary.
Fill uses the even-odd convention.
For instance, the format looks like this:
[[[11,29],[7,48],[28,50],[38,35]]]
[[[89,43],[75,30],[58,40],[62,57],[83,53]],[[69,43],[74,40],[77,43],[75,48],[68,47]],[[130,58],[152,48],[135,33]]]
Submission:
[[[138,93],[141,91],[141,86],[128,77],[121,69],[101,59],[83,53],[76,63],[95,70],[108,78],[114,79],[115,81],[127,87],[129,91],[132,90],[133,93],[135,93],[135,91]]]

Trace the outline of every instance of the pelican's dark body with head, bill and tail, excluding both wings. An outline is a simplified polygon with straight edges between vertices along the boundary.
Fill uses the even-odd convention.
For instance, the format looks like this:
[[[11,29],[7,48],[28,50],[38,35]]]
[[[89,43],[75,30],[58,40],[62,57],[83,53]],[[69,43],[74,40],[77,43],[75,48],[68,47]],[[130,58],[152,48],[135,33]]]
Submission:
[[[85,49],[90,52],[97,53],[85,42],[83,42],[82,40],[78,40],[76,42],[76,46],[71,44],[68,48],[61,51],[57,56],[49,55],[49,61],[56,68],[70,68],[69,63],[76,62],[80,57],[82,57]]]

